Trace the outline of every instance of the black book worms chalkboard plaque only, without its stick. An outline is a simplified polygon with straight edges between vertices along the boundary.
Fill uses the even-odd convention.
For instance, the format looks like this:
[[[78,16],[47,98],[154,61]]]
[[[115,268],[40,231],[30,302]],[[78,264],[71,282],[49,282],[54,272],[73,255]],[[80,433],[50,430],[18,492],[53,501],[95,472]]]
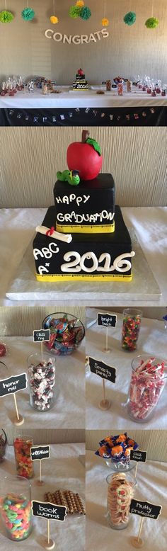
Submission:
[[[32,501],[33,516],[42,516],[48,521],[64,521],[67,515],[67,507],[54,505],[45,501]]]

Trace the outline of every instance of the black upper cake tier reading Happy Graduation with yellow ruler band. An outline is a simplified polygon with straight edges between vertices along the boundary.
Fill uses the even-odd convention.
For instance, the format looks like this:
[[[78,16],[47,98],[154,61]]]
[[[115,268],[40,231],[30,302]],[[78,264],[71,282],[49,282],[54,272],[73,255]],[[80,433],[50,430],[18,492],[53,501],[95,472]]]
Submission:
[[[111,174],[82,181],[77,190],[57,180],[54,203],[57,232],[114,232],[115,183]]]

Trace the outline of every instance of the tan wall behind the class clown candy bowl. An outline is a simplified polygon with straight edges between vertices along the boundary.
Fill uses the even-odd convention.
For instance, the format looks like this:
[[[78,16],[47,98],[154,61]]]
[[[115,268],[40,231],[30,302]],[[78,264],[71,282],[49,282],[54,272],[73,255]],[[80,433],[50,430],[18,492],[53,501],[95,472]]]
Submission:
[[[127,434],[139,444],[140,450],[147,451],[148,459],[167,461],[167,431],[141,431],[140,429],[135,431],[130,429],[130,431],[128,431],[128,427],[126,427],[126,431]],[[111,433],[115,436],[116,434],[122,434],[124,432],[125,429],[117,431],[114,428],[108,431],[86,431],[86,450],[96,451],[99,448],[98,443],[105,438],[105,436],[109,436]]]

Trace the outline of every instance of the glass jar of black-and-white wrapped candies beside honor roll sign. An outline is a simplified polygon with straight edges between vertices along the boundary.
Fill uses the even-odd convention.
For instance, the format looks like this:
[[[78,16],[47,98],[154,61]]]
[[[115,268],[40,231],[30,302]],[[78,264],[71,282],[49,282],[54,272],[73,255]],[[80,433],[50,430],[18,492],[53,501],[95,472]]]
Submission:
[[[55,403],[55,358],[49,354],[28,357],[30,405],[37,411],[48,411]]]

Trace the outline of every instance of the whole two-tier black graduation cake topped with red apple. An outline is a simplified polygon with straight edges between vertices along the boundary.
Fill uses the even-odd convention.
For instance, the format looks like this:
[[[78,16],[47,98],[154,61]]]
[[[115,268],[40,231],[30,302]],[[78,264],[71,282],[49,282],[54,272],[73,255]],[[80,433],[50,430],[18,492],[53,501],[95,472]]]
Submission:
[[[38,281],[132,280],[132,243],[111,174],[99,174],[100,146],[83,130],[57,172],[53,207],[33,242]]]

